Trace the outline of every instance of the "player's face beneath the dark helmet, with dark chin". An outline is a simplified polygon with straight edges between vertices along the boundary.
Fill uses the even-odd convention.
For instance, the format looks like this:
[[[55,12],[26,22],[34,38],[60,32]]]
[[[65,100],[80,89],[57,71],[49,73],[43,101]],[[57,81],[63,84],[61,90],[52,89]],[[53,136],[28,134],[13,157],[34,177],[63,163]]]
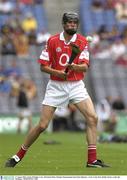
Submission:
[[[65,24],[63,24],[63,28],[64,28],[64,31],[68,35],[72,36],[77,32],[78,23],[77,23],[77,21],[70,20],[70,21],[66,22]]]

